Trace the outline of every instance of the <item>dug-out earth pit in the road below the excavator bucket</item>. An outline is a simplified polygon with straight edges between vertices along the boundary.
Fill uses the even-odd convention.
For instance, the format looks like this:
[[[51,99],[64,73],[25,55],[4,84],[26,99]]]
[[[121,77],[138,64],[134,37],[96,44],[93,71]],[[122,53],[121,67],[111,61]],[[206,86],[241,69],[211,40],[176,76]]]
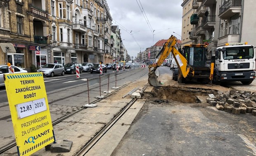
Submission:
[[[215,89],[161,86],[154,87],[151,95],[160,100],[173,100],[182,103],[201,103],[197,96],[209,96],[209,94],[217,94],[217,92],[218,91]]]

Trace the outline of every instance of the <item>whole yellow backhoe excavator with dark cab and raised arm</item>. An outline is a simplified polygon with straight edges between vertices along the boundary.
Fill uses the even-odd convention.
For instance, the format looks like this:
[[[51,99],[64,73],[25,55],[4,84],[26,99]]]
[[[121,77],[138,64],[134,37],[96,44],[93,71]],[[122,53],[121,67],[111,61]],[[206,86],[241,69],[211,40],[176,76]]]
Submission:
[[[170,53],[173,53],[173,61],[178,65],[178,83],[185,83],[186,80],[197,79],[201,83],[209,83],[211,85],[213,78],[214,64],[206,63],[207,60],[207,46],[204,44],[188,44],[181,49],[177,50],[175,44],[177,38],[173,35],[168,39],[156,56],[155,60],[159,57],[156,63],[155,60],[149,64],[148,83],[154,87],[161,86],[160,81],[157,80],[156,69],[164,62]],[[151,68],[153,68],[151,70]]]

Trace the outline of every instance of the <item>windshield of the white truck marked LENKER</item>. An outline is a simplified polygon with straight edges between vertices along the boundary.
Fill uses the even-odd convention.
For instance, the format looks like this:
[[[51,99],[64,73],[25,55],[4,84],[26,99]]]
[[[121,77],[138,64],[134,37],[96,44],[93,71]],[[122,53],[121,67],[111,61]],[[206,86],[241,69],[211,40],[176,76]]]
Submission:
[[[253,46],[226,47],[223,52],[224,60],[250,59],[254,58]]]

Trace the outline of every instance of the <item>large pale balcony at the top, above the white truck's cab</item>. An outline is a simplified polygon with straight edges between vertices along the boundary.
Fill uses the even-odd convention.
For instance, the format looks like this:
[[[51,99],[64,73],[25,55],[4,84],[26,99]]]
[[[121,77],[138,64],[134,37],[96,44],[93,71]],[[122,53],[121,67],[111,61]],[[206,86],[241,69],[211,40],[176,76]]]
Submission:
[[[227,0],[220,7],[218,17],[222,20],[228,20],[231,16],[242,11],[242,0]]]

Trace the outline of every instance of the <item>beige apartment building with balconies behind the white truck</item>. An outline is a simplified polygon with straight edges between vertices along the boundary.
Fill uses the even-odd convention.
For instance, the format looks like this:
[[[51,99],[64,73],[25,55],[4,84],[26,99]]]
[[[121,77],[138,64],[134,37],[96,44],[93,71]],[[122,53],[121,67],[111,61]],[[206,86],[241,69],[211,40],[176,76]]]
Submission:
[[[189,6],[192,7],[190,8]],[[230,42],[256,44],[252,0],[183,0],[183,43],[208,45],[209,57]],[[190,16],[190,24],[185,22]],[[188,32],[189,31],[189,32]],[[184,35],[189,34],[189,39]]]

